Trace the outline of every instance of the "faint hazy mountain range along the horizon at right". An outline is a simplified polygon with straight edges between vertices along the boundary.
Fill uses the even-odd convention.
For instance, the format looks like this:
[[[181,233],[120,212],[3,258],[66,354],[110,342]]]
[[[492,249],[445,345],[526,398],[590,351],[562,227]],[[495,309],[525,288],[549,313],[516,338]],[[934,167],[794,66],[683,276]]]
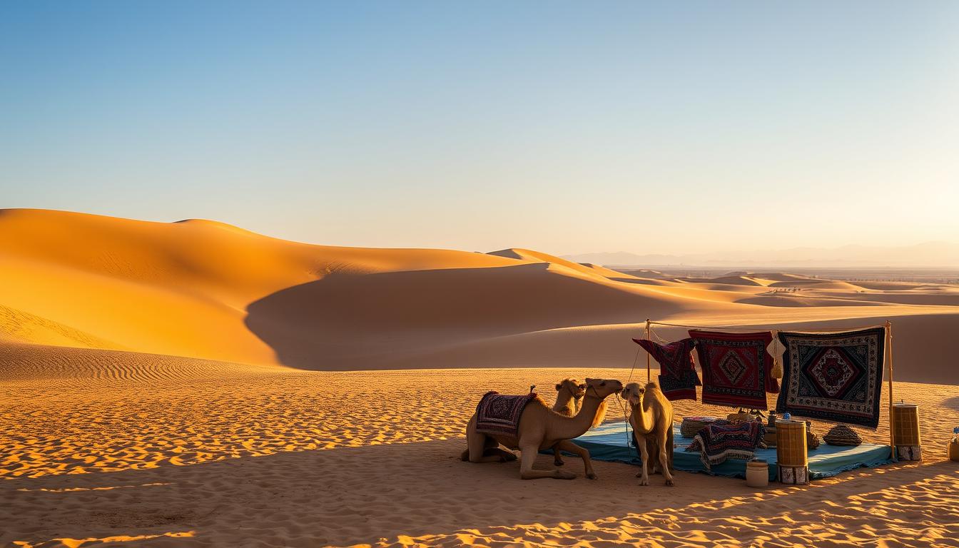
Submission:
[[[914,246],[793,248],[790,250],[730,251],[682,255],[626,251],[563,255],[578,263],[604,266],[756,266],[850,268],[959,268],[959,243],[926,242]]]

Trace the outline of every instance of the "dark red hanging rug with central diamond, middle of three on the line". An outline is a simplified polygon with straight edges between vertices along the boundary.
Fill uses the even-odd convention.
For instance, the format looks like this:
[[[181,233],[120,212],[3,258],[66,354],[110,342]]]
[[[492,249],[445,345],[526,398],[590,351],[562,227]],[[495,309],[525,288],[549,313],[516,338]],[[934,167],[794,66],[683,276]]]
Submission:
[[[766,351],[772,333],[718,333],[690,330],[703,369],[703,403],[766,409],[766,393],[778,393]]]

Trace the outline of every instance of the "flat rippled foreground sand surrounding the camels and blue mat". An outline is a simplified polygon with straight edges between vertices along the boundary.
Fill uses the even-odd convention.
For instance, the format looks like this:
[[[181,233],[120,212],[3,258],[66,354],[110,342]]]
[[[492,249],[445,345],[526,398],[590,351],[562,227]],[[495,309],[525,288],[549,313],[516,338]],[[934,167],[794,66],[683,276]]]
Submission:
[[[0,346],[0,361],[3,546],[959,543],[951,386],[896,385],[921,405],[923,463],[808,487],[679,472],[675,488],[641,488],[630,465],[596,463],[589,481],[568,459],[576,480],[524,482],[517,463],[458,460],[486,390],[536,384],[551,399],[565,376],[629,369],[329,373],[21,345]],[[859,431],[887,442],[885,426]]]

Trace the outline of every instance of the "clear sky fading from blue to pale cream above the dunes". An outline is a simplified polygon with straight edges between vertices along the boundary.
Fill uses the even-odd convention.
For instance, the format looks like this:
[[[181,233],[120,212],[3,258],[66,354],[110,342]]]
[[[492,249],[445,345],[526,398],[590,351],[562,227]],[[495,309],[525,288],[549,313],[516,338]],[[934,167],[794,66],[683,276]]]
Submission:
[[[0,3],[0,207],[297,241],[959,241],[956,2]]]

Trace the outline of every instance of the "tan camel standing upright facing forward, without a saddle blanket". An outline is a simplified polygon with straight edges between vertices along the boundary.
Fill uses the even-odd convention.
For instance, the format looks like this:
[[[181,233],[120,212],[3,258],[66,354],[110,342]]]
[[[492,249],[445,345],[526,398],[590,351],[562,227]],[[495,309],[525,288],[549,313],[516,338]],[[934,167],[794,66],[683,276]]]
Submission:
[[[649,485],[648,468],[652,463],[652,472],[662,471],[666,476],[666,485],[672,486],[672,404],[660,391],[656,383],[645,388],[639,383],[629,383],[621,396],[629,401],[632,413],[629,423],[633,427],[633,439],[643,458],[643,470],[636,474],[641,477],[641,486]]]

